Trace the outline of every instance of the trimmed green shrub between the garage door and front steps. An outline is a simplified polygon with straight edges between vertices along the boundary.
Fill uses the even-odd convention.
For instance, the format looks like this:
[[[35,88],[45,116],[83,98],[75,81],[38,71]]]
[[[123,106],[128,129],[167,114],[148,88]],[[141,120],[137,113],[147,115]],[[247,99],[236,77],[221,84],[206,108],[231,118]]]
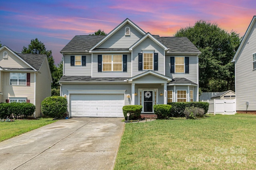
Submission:
[[[126,105],[123,106],[124,118],[127,120],[127,113],[130,113],[129,119],[140,118],[140,113],[142,111],[142,106],[140,105]]]

